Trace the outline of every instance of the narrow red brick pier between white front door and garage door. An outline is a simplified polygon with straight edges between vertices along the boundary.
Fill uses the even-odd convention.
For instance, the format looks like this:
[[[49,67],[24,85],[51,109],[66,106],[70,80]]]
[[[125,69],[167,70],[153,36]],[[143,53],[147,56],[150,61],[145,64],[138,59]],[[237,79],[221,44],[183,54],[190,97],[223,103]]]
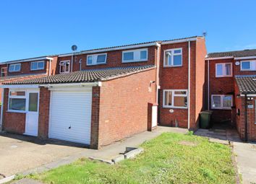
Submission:
[[[48,88],[40,88],[39,97],[39,117],[38,117],[38,137],[48,138],[48,122],[50,110],[51,92]]]

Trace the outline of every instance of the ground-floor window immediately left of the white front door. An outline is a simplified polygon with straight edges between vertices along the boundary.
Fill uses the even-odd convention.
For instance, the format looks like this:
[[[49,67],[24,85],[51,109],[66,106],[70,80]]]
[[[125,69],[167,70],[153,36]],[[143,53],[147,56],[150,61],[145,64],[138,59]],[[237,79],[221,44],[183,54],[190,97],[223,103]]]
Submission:
[[[26,109],[25,91],[9,92],[9,111],[24,112]]]

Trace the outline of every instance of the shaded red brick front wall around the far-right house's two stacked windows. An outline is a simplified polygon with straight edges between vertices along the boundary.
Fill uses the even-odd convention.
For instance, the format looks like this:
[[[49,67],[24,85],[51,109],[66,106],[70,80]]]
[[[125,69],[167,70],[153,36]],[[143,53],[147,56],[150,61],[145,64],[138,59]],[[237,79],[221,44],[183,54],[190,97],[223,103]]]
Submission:
[[[216,63],[233,63],[231,77],[216,77]],[[231,110],[216,110],[211,108],[211,95],[232,95],[234,94],[234,61],[233,59],[219,59],[209,61],[209,100],[208,100],[208,61],[205,61],[205,97],[209,102],[210,110],[213,110],[213,122],[231,120]],[[234,104],[234,97],[233,97]],[[207,107],[207,103],[205,105]]]

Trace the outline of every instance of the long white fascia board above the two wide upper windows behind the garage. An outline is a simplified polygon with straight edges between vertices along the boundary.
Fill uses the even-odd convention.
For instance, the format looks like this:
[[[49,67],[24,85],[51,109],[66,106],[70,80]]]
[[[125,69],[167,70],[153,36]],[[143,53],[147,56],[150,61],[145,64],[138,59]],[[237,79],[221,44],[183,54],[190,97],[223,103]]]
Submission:
[[[123,47],[116,47],[116,48],[103,48],[95,51],[81,51],[79,53],[67,53],[67,54],[61,54],[59,57],[67,57],[67,56],[72,56],[74,55],[80,55],[80,54],[87,54],[87,53],[103,53],[103,52],[108,52],[108,51],[119,51],[119,50],[126,50],[126,49],[133,49],[133,48],[143,48],[143,47],[149,47],[149,46],[158,46],[158,42],[153,42],[153,43],[145,43],[145,44],[140,44],[140,45],[128,45],[128,46],[123,46]]]

